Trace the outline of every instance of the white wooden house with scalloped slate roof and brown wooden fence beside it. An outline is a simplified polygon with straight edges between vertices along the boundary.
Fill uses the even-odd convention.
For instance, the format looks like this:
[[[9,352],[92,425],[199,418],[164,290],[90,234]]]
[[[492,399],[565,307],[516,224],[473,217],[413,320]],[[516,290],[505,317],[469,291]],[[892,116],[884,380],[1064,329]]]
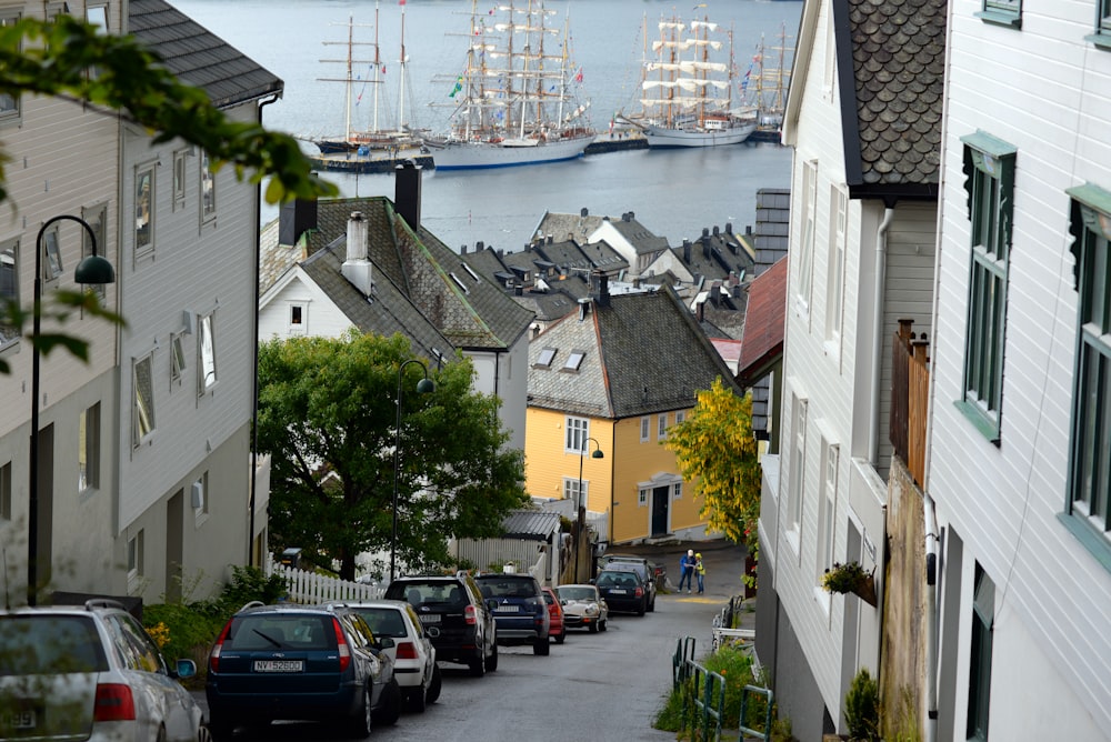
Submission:
[[[880,610],[827,592],[822,576],[858,561],[882,594],[891,339],[904,318],[928,331],[932,312],[944,7],[807,0],[800,22],[783,128],[794,160],[782,419],[779,453],[763,460],[757,632],[799,739],[847,731],[852,678],[879,674]]]

